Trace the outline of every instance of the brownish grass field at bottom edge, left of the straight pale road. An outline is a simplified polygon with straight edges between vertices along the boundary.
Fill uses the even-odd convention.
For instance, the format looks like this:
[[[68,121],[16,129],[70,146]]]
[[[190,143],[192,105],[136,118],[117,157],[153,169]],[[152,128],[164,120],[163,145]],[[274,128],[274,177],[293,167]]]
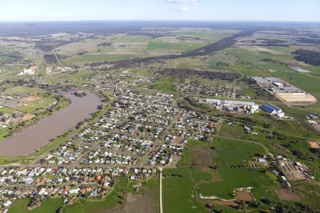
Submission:
[[[140,195],[129,192],[124,206],[124,213],[149,213],[157,212],[156,190],[148,190]]]

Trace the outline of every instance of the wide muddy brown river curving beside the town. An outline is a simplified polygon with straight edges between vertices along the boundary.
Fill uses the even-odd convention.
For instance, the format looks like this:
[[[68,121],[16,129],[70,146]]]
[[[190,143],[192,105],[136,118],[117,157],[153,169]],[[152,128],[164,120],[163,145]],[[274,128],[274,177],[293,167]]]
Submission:
[[[14,136],[0,142],[0,156],[27,155],[50,143],[61,133],[75,127],[83,119],[90,118],[90,114],[97,111],[101,104],[100,98],[85,92],[85,97],[70,95],[71,104],[68,107],[40,119],[36,124],[14,133]]]

